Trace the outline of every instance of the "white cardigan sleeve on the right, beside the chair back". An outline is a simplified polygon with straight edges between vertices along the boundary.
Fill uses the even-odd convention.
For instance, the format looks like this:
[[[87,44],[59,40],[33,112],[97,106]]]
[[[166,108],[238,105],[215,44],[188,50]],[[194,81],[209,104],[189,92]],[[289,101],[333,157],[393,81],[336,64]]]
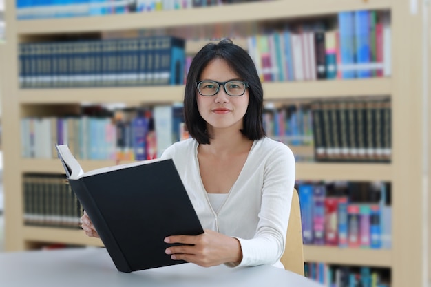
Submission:
[[[273,264],[283,268],[280,258],[286,243],[294,184],[295,158],[291,149],[279,145],[265,162],[262,204],[255,236],[251,239],[235,237],[242,248],[242,261],[238,266]]]

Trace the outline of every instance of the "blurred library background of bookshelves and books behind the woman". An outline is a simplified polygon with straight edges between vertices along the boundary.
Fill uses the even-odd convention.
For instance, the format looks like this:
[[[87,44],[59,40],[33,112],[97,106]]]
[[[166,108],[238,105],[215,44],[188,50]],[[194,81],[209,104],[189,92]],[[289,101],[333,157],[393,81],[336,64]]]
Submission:
[[[64,2],[0,0],[2,251],[101,246],[53,144],[85,170],[159,156],[193,55],[229,38],[295,153],[306,276],[430,286],[429,1]]]

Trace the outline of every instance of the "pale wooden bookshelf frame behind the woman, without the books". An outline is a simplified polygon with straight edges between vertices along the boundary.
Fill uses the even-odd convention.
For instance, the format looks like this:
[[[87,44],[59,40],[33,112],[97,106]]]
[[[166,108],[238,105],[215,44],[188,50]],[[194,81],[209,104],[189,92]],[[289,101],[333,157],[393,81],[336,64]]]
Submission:
[[[381,266],[392,270],[393,287],[424,286],[430,271],[423,252],[427,229],[423,228],[426,213],[423,193],[424,167],[431,160],[423,156],[424,145],[431,136],[423,133],[426,114],[423,105],[429,92],[423,70],[423,54],[427,41],[423,37],[427,25],[423,17],[428,11],[417,11],[403,0],[277,0],[242,3],[234,6],[160,11],[145,14],[119,14],[104,17],[43,19],[16,21],[14,1],[6,0],[8,42],[2,63],[3,87],[3,151],[6,214],[6,250],[31,249],[40,242],[64,242],[100,246],[79,230],[24,226],[21,176],[25,172],[61,173],[58,160],[21,158],[19,120],[26,115],[49,114],[58,109],[76,109],[80,103],[171,103],[182,99],[184,87],[114,87],[85,89],[19,89],[17,45],[58,34],[99,33],[115,30],[164,28],[180,33],[196,26],[253,25],[261,21],[280,21],[297,17],[324,17],[344,10],[390,10],[392,14],[392,76],[335,81],[264,83],[266,100],[327,98],[337,96],[390,96],[392,102],[392,162],[383,163],[297,163],[298,180],[384,180],[392,184],[392,249],[339,249],[325,246],[304,246],[306,261]],[[429,25],[429,24],[428,24]],[[241,42],[242,43],[242,42]],[[188,43],[187,49],[199,45]],[[241,44],[240,44],[241,45]],[[428,52],[430,48],[426,49]],[[428,60],[429,61],[429,60]],[[428,62],[431,63],[431,62]],[[428,82],[425,82],[428,80]],[[428,93],[428,94],[426,94]],[[120,95],[120,96],[119,96]],[[154,97],[157,95],[157,98]],[[431,110],[431,104],[428,103]],[[431,120],[428,125],[431,126]],[[84,169],[103,167],[114,162],[85,161]],[[424,180],[425,179],[425,180]],[[431,184],[429,184],[431,186]],[[429,188],[430,189],[430,188]],[[430,202],[430,200],[428,200]],[[428,204],[430,205],[430,204]],[[430,252],[431,253],[431,252]],[[430,269],[430,268],[428,268]]]

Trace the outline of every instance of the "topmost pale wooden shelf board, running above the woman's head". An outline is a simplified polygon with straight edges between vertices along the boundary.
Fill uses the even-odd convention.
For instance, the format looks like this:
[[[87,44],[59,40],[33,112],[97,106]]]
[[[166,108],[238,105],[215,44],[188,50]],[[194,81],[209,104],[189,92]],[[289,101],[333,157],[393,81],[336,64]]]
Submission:
[[[264,3],[231,4],[184,10],[149,13],[114,14],[96,17],[37,19],[17,21],[17,34],[59,34],[109,30],[174,28],[178,26],[215,25],[217,23],[255,22],[288,17],[317,17],[344,10],[388,9],[390,0],[277,0]]]

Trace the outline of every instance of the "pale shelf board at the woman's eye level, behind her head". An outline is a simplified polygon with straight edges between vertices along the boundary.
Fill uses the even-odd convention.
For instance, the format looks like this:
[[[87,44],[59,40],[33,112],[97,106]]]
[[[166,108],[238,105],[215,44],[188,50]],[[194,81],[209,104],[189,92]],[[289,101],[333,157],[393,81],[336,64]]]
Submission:
[[[265,100],[389,96],[390,78],[263,83]],[[22,104],[182,102],[184,85],[19,89]]]

